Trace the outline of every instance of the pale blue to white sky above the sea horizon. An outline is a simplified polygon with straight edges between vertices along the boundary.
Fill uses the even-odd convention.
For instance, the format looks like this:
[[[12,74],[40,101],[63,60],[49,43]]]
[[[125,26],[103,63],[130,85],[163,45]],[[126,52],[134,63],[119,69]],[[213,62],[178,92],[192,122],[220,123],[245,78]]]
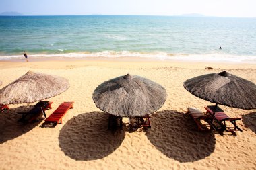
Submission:
[[[0,0],[24,15],[182,15],[256,17],[256,0]]]

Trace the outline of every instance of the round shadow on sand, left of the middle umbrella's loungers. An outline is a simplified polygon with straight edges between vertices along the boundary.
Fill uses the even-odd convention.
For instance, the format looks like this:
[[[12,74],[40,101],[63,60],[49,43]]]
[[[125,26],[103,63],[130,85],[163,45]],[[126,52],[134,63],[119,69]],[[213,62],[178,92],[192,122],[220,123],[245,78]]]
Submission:
[[[108,130],[108,114],[89,112],[71,118],[61,128],[59,146],[71,159],[102,159],[113,153],[125,138],[123,130]]]

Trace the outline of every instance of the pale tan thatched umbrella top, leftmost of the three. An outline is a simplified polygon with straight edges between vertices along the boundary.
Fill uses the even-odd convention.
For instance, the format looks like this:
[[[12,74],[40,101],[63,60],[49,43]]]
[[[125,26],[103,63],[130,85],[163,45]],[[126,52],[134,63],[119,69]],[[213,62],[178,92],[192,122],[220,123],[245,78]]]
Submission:
[[[0,89],[0,104],[33,103],[59,95],[68,88],[69,81],[63,77],[28,71]]]

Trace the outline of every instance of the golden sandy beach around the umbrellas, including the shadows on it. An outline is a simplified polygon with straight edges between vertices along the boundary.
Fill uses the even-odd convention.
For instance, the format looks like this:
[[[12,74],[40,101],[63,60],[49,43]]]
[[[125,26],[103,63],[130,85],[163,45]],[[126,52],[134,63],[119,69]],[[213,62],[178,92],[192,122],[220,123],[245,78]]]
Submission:
[[[205,69],[212,67],[214,69]],[[73,110],[55,128],[42,128],[43,120],[20,124],[17,120],[31,105],[9,105],[0,114],[0,169],[256,169],[256,110],[221,106],[229,116],[240,116],[243,132],[223,135],[197,132],[187,106],[204,110],[212,103],[183,88],[197,75],[228,71],[256,83],[256,65],[227,63],[67,60],[0,62],[5,85],[28,70],[59,75],[71,87],[56,97],[49,116],[63,101],[75,101]],[[126,132],[107,130],[108,115],[92,101],[103,81],[127,73],[140,75],[166,88],[166,103],[152,114],[152,128]],[[127,122],[127,119],[123,120]]]

